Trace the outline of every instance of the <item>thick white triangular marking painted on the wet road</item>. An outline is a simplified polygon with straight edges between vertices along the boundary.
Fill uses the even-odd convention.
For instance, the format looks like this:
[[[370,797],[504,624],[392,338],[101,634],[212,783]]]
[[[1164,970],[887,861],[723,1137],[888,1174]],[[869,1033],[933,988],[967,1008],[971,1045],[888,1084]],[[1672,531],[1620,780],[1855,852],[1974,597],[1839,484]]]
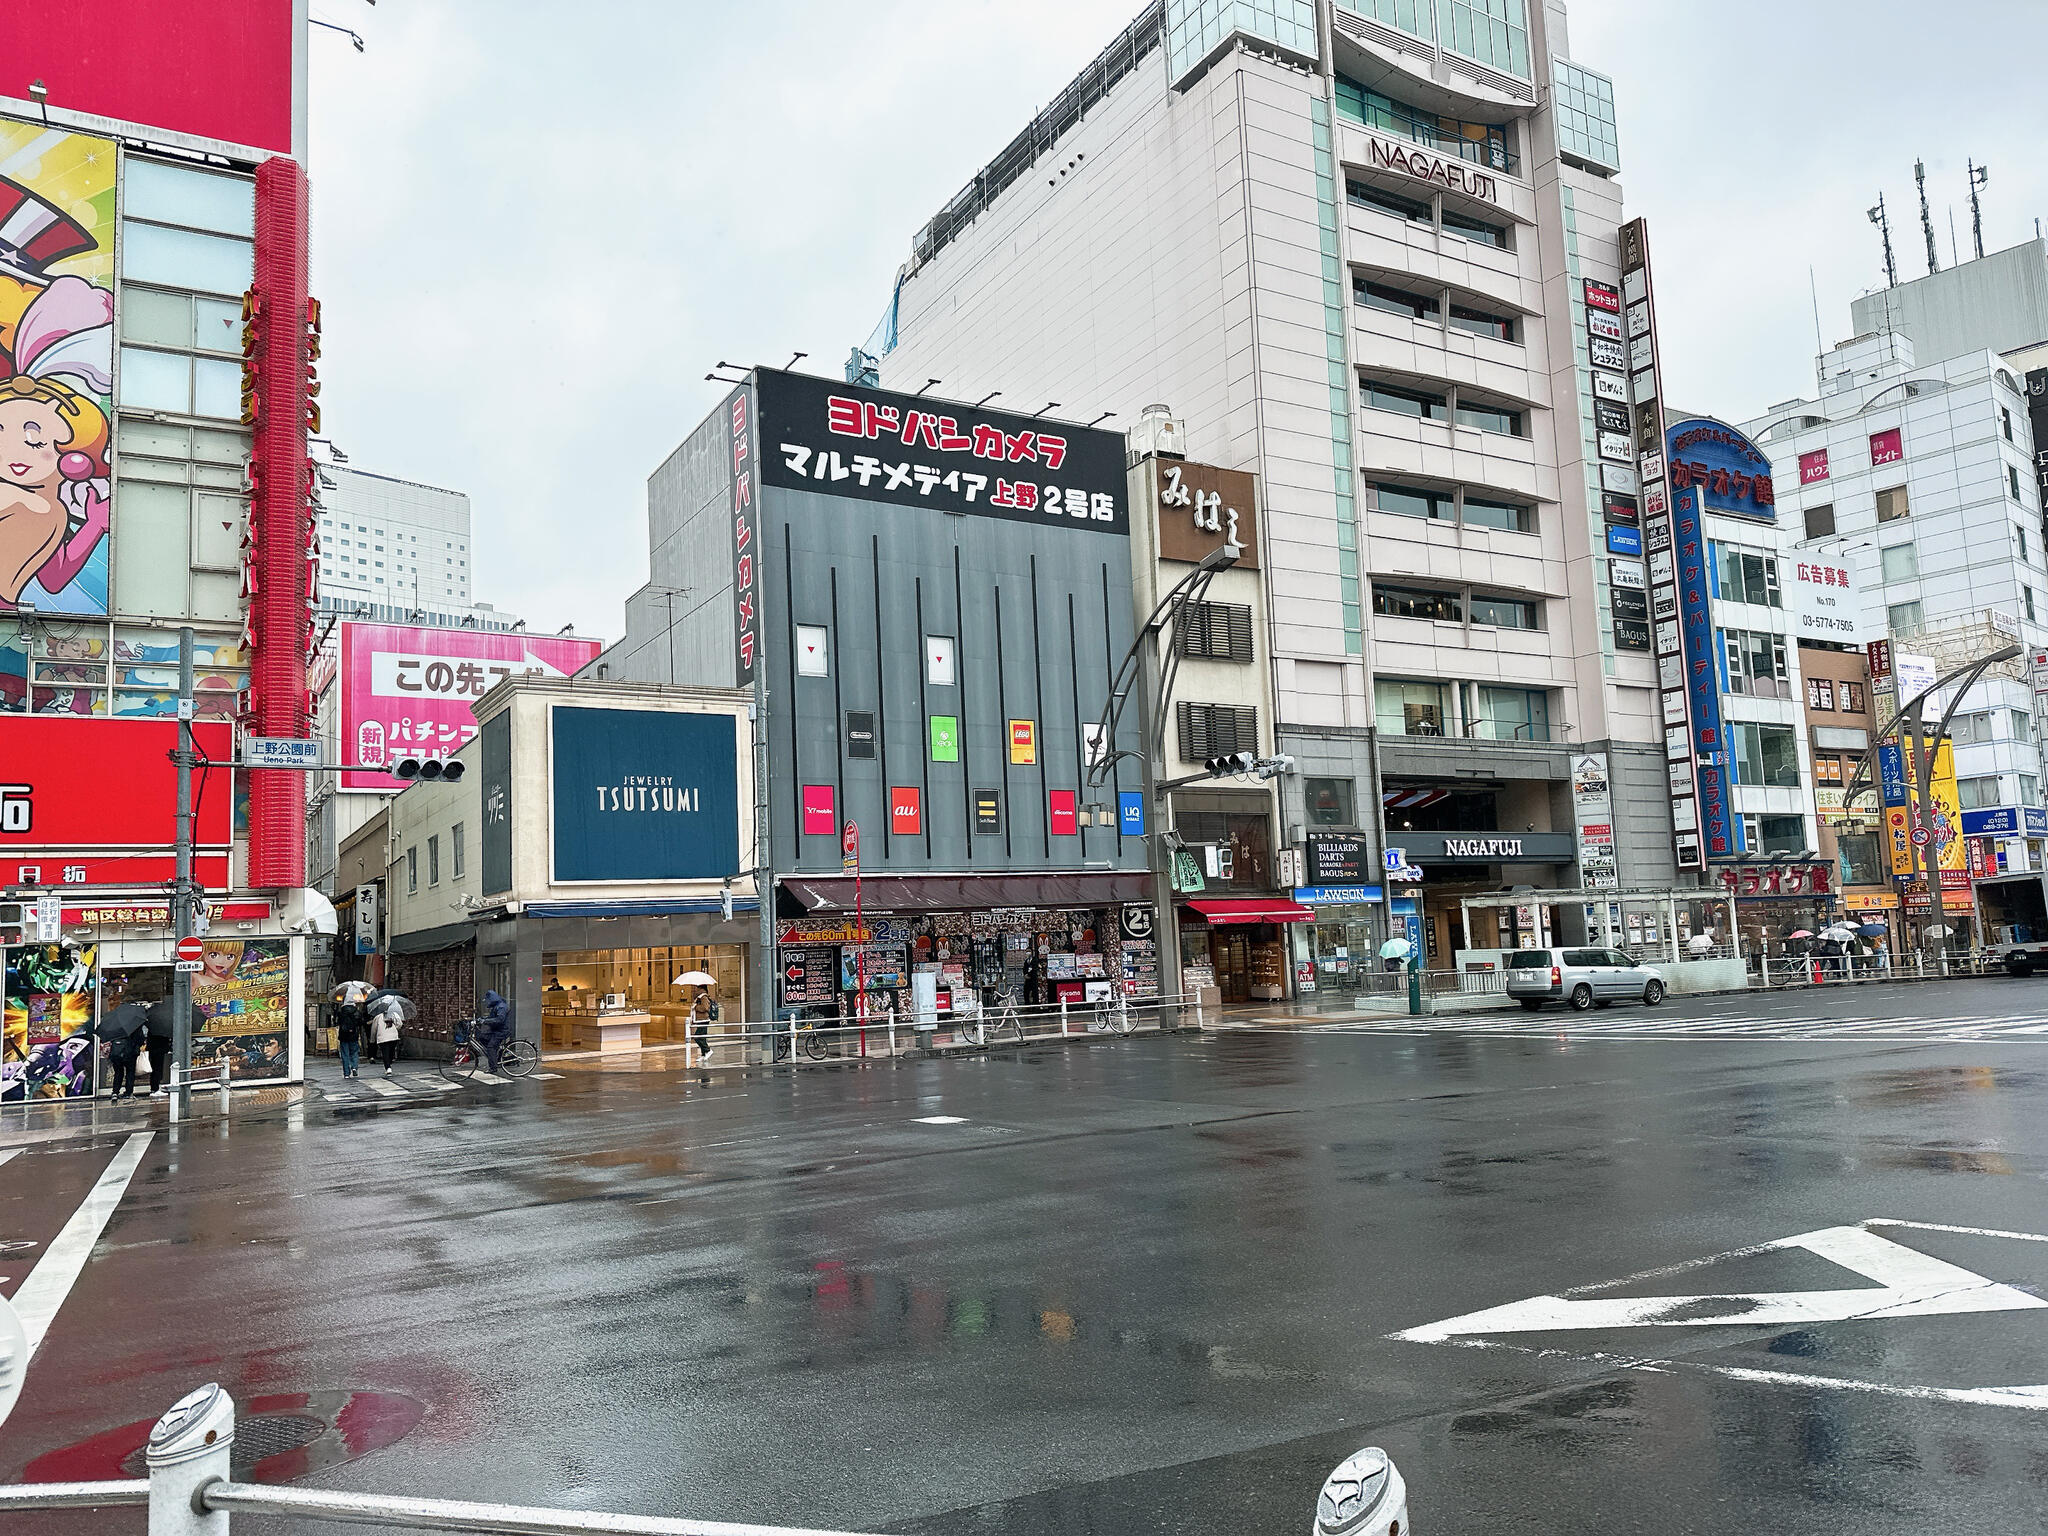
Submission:
[[[1626,1296],[1581,1300],[1530,1296],[1507,1307],[1427,1323],[1395,1339],[1448,1343],[1477,1333],[1546,1333],[1587,1327],[1784,1327],[1843,1323],[1868,1317],[1948,1317],[1956,1313],[2017,1313],[2048,1300],[1987,1280],[1954,1264],[1892,1243],[1862,1227],[1825,1227],[1817,1233],[1765,1243],[1749,1253],[1802,1247],[1831,1264],[1876,1280],[1853,1290],[1765,1290],[1751,1294]],[[1622,1282],[1614,1282],[1622,1284]],[[2038,1389],[2005,1389],[2034,1393]]]

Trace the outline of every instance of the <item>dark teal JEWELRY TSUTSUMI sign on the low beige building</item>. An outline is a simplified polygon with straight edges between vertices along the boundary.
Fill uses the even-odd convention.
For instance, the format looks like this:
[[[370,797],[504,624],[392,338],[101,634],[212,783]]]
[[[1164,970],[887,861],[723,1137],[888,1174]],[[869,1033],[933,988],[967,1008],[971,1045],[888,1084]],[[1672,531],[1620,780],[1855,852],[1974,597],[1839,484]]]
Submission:
[[[549,733],[555,883],[739,872],[731,715],[555,705]]]

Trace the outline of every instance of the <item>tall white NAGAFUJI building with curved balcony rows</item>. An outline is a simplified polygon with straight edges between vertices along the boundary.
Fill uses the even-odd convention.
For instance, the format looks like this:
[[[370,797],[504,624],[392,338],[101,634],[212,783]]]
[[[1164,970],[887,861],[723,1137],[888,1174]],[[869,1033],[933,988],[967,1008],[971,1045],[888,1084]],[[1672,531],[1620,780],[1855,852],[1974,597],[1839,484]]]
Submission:
[[[1563,0],[1155,0],[918,231],[850,362],[1163,403],[1257,475],[1278,842],[1384,831],[1432,967],[1542,942],[1544,887],[1677,877],[1618,168]],[[1323,911],[1315,958],[1360,932]]]

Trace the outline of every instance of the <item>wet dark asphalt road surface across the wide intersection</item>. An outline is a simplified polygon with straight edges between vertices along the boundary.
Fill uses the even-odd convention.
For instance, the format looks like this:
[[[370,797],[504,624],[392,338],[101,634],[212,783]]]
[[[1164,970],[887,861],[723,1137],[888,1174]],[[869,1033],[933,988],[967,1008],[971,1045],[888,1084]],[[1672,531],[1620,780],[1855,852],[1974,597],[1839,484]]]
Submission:
[[[2036,1532],[2048,1411],[1942,1393],[2048,1384],[2048,1309],[1386,1337],[1866,1221],[2048,1233],[2048,1032],[1839,1026],[2030,1014],[2048,983],[1858,987],[1638,1016],[1761,1038],[1223,1030],[160,1133],[0,1479],[217,1378],[387,1395],[418,1425],[309,1481],[391,1493],[1223,1536],[1376,1442],[1425,1536]],[[8,1145],[0,1243],[45,1245],[121,1137]],[[2048,1243],[1864,1231],[2048,1296]],[[1872,1284],[1790,1249],[1595,1294]]]

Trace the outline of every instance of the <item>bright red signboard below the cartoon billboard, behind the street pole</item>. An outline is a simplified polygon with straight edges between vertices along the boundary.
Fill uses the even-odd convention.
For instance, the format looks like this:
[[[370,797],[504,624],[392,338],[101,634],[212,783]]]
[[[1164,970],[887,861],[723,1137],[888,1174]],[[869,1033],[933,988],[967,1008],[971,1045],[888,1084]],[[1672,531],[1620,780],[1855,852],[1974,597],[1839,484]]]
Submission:
[[[195,842],[233,842],[233,727],[195,721],[209,768],[193,774]],[[176,721],[0,715],[0,858],[31,850],[170,852],[178,836]],[[301,829],[303,836],[303,829]],[[49,862],[47,858],[43,862]],[[49,885],[59,885],[51,879]]]

